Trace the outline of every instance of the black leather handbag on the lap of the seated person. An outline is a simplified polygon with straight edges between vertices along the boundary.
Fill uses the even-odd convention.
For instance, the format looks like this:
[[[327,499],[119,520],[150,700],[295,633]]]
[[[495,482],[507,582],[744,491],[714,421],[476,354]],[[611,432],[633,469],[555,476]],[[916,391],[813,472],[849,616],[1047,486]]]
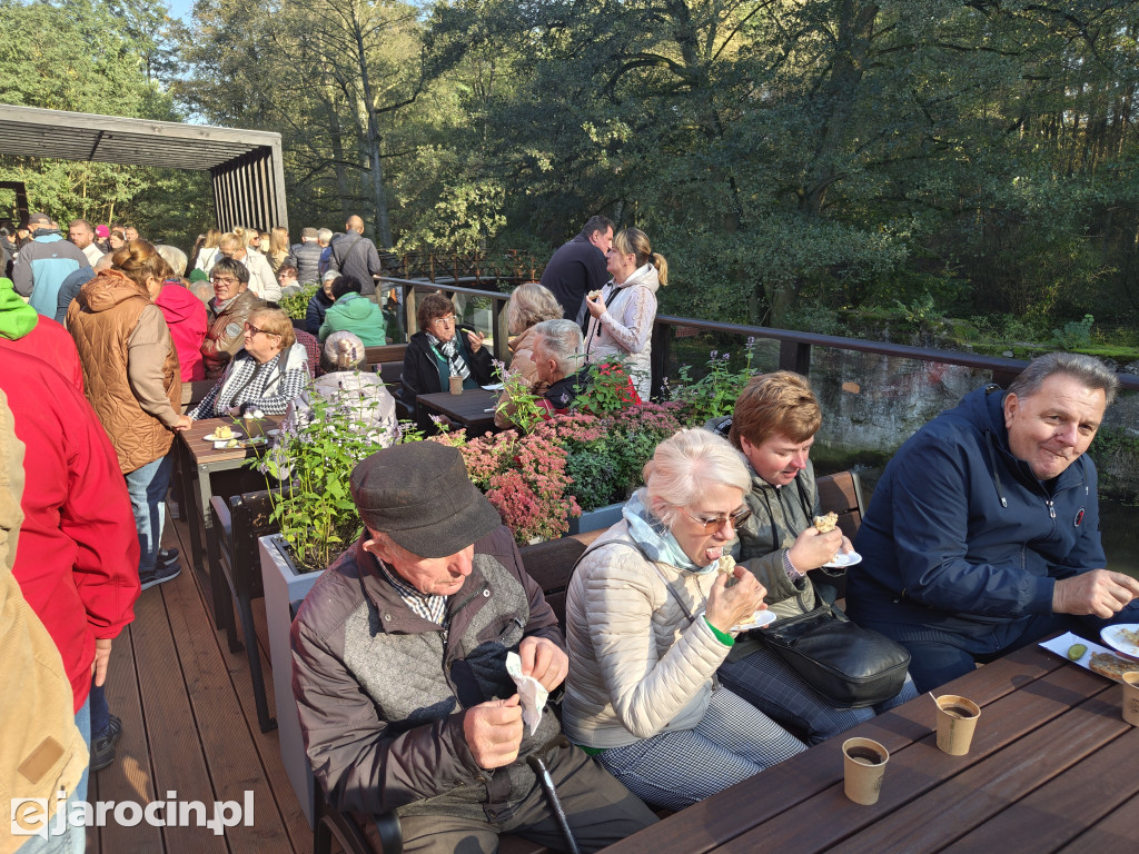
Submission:
[[[906,682],[910,654],[884,634],[852,623],[822,603],[798,617],[752,632],[822,699],[841,708],[872,706]]]

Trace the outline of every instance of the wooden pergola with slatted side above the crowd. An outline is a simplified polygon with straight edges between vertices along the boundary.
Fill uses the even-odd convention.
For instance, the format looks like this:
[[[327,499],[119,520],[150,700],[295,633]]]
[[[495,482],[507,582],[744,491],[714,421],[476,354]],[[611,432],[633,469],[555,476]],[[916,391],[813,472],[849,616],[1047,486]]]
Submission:
[[[208,172],[222,231],[288,228],[279,133],[9,104],[0,128],[0,154]]]

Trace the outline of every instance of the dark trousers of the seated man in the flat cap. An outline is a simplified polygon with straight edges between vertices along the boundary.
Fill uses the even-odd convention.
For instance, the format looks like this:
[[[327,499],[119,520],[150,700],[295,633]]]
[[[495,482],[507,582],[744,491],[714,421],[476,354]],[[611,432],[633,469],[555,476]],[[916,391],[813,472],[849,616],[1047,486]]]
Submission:
[[[582,852],[604,848],[657,820],[640,798],[576,747],[558,750],[548,767]],[[515,834],[555,851],[565,851],[565,838],[540,785],[535,783],[513,812],[514,815],[503,822],[453,815],[402,818],[403,851],[407,854],[494,854],[499,834]]]

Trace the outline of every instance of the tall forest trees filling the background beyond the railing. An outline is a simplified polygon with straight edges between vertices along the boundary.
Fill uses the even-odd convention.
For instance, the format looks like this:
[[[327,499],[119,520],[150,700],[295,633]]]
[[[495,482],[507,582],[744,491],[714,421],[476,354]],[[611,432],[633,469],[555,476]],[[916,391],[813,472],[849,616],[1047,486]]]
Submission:
[[[665,310],[777,326],[1139,315],[1134,2],[116,2],[0,0],[68,33],[9,40],[0,98],[279,131],[297,224],[546,254],[601,213]]]

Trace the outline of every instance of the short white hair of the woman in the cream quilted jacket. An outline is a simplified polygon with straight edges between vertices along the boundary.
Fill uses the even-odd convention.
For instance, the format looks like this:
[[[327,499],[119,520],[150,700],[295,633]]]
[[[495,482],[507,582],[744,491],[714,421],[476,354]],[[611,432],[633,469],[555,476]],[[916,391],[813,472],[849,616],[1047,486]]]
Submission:
[[[744,454],[712,430],[694,427],[664,440],[645,465],[645,503],[670,528],[680,510],[712,486],[752,487]]]

